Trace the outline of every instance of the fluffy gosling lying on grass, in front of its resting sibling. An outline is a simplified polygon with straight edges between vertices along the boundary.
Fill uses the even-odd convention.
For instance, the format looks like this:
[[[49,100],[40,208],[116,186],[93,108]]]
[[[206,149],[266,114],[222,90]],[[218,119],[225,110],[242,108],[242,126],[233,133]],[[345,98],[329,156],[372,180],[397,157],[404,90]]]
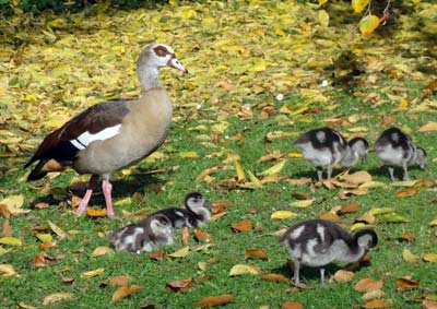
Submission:
[[[162,214],[146,217],[140,224],[131,224],[116,231],[108,231],[109,242],[117,251],[154,251],[162,246],[175,242],[172,222]]]

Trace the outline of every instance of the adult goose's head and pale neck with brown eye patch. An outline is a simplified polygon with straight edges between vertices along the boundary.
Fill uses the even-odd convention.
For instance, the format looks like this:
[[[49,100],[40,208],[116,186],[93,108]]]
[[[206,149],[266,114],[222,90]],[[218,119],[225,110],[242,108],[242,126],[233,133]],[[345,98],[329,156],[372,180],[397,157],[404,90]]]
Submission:
[[[160,69],[164,67],[188,73],[188,70],[176,58],[175,51],[168,45],[151,44],[141,51],[137,61],[137,74],[145,91],[160,86],[158,73]]]

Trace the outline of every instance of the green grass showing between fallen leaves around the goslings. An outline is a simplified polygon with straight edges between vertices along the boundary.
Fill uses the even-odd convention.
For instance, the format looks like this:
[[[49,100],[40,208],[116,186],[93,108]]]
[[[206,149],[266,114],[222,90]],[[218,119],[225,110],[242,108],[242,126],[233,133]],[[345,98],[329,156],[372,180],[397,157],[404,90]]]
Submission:
[[[420,85],[412,91],[417,91]],[[355,126],[368,128],[366,136],[371,143],[381,131],[379,116],[377,114],[391,114],[390,109],[378,112],[371,110],[357,98],[349,94],[332,94],[336,98],[340,107],[335,109],[335,115],[347,117],[353,114],[367,114],[368,117],[359,120]],[[274,103],[277,108],[282,104],[298,102],[297,96],[286,97],[284,102],[273,102],[272,98],[263,97],[260,102]],[[256,103],[252,103],[256,106]],[[119,218],[110,221],[108,218],[88,218],[78,217],[71,213],[70,206],[64,202],[51,202],[49,209],[32,209],[26,202],[26,207],[32,212],[27,215],[16,215],[11,217],[14,237],[24,241],[22,247],[12,248],[11,252],[1,257],[2,264],[12,264],[20,277],[9,277],[0,282],[0,304],[3,308],[15,308],[17,302],[24,302],[33,306],[42,306],[43,299],[52,293],[72,293],[74,298],[60,304],[44,306],[44,308],[139,308],[139,306],[156,305],[157,308],[193,308],[201,298],[211,295],[232,294],[236,297],[235,302],[231,302],[225,308],[259,308],[262,305],[269,305],[270,308],[280,308],[285,301],[298,301],[304,308],[354,308],[363,306],[362,294],[353,289],[353,286],[361,278],[371,277],[382,280],[382,287],[386,296],[383,299],[392,304],[392,308],[422,308],[421,304],[414,300],[415,297],[423,294],[436,294],[437,284],[435,276],[436,263],[427,263],[423,260],[416,263],[405,262],[402,258],[402,251],[408,248],[417,255],[424,253],[437,253],[435,243],[435,229],[427,224],[437,214],[435,204],[427,201],[435,197],[435,189],[423,189],[414,197],[404,199],[394,199],[399,188],[390,187],[388,190],[373,189],[362,197],[352,197],[349,200],[339,199],[339,190],[327,190],[322,187],[316,187],[311,192],[308,186],[290,186],[285,181],[279,183],[269,183],[258,190],[220,190],[217,182],[235,175],[235,170],[218,170],[212,174],[215,180],[206,185],[203,181],[194,182],[193,179],[205,168],[221,163],[225,156],[206,158],[205,156],[220,151],[222,146],[232,150],[240,155],[241,164],[245,168],[261,171],[272,163],[257,163],[258,158],[265,154],[265,148],[270,151],[279,150],[286,154],[295,151],[292,146],[293,136],[274,140],[270,144],[264,144],[267,132],[282,130],[285,132],[299,133],[304,130],[322,126],[321,119],[332,116],[331,111],[323,111],[314,116],[310,123],[296,120],[295,126],[281,127],[270,117],[267,120],[257,120],[259,110],[255,109],[253,117],[249,120],[240,120],[236,116],[229,116],[226,121],[231,126],[225,134],[234,136],[240,132],[245,138],[245,146],[238,145],[237,141],[232,139],[222,139],[217,148],[208,148],[201,146],[196,140],[199,134],[187,130],[199,124],[202,119],[213,118],[214,111],[201,112],[193,119],[184,122],[175,122],[169,135],[169,141],[165,144],[176,152],[167,153],[168,158],[157,161],[152,165],[145,162],[139,164],[139,168],[133,169],[133,174],[122,177],[115,175],[115,199],[130,197],[133,192],[144,193],[141,202],[134,201],[131,204],[123,204],[116,207]],[[428,152],[430,173],[435,174],[436,168],[433,159],[436,157],[435,134],[416,133],[415,130],[428,120],[433,120],[435,114],[424,114],[415,119],[406,117],[405,114],[393,114],[395,126],[409,127],[412,129],[413,140],[420,145],[424,145]],[[340,127],[345,131],[347,127]],[[196,151],[200,154],[199,159],[184,159],[179,153],[184,151]],[[31,154],[26,153],[20,158],[24,162]],[[168,168],[178,166],[178,169],[172,173],[157,174],[153,177],[141,174],[147,168]],[[233,165],[231,165],[233,166]],[[359,165],[356,169],[368,170],[375,180],[389,182],[388,173],[380,171],[379,163],[370,154],[367,166]],[[13,169],[4,175],[0,180],[1,193],[8,197],[12,193],[22,193],[26,201],[33,199],[42,200],[49,194],[33,189],[34,183],[20,182],[17,178],[23,175],[23,170]],[[68,188],[73,173],[64,173],[51,181],[52,187]],[[314,168],[300,158],[291,158],[281,171],[284,178],[315,178]],[[412,169],[411,176],[414,179],[427,179],[428,177],[418,169]],[[166,181],[174,180],[169,183]],[[158,190],[161,189],[161,190]],[[164,191],[163,191],[164,189]],[[202,229],[212,236],[211,247],[200,252],[190,252],[184,259],[168,260],[167,253],[182,248],[185,245],[180,240],[172,247],[165,248],[164,261],[156,262],[147,258],[146,253],[134,254],[128,252],[113,252],[99,258],[91,258],[91,253],[98,246],[108,246],[105,238],[98,237],[98,233],[115,229],[122,224],[134,219],[122,217],[121,210],[135,211],[144,209],[145,211],[158,210],[168,205],[178,205],[182,203],[185,193],[190,190],[202,192],[210,201],[228,200],[233,205],[228,207],[227,214],[218,221],[211,222]],[[97,190],[98,191],[98,190]],[[158,194],[156,192],[160,192]],[[292,193],[310,193],[316,202],[308,209],[291,209],[288,203],[294,201]],[[359,211],[355,214],[343,216],[341,224],[349,227],[353,224],[354,217],[364,214],[371,207],[390,206],[400,215],[410,219],[404,224],[376,224],[375,229],[378,233],[380,242],[377,248],[370,252],[371,261],[368,265],[361,268],[356,276],[349,283],[329,283],[326,287],[318,286],[318,271],[304,269],[304,281],[309,284],[311,289],[295,290],[284,283],[272,283],[261,281],[260,276],[243,275],[231,277],[228,275],[233,265],[247,263],[261,268],[265,273],[281,273],[291,277],[286,264],[287,252],[280,246],[279,239],[271,236],[281,227],[305,219],[314,218],[329,211],[335,205],[346,205],[351,201],[359,203]],[[103,206],[101,194],[93,197],[92,203],[96,206]],[[248,213],[249,207],[255,207],[255,213]],[[292,210],[298,213],[295,218],[284,221],[271,221],[270,215],[275,210]],[[244,218],[249,218],[257,230],[250,233],[235,234],[231,229],[232,223]],[[2,218],[3,221],[3,218]],[[33,269],[32,259],[39,252],[39,240],[35,237],[33,230],[36,226],[48,227],[47,221],[51,221],[63,230],[80,230],[80,234],[73,235],[68,239],[55,239],[57,247],[47,250],[47,254],[57,258],[58,261],[42,269]],[[415,235],[416,241],[409,245],[400,242],[397,237],[403,231],[411,231]],[[197,245],[191,240],[190,246]],[[7,247],[7,246],[4,246]],[[264,250],[268,261],[246,260],[246,249],[258,248]],[[199,272],[198,263],[206,262],[206,270]],[[343,264],[332,264],[329,268],[328,276],[332,275]],[[93,278],[82,278],[80,274],[104,268],[105,272]],[[102,282],[117,275],[129,275],[131,284],[141,285],[142,290],[127,297],[118,302],[113,302],[111,295],[116,290],[114,286],[102,286]],[[210,280],[201,281],[204,275]],[[410,275],[420,280],[420,288],[411,292],[397,292],[394,281],[398,277]],[[73,277],[72,284],[62,282],[62,277]],[[181,293],[172,293],[165,290],[166,283],[174,280],[194,278],[193,286]],[[408,306],[408,307],[406,307]]]

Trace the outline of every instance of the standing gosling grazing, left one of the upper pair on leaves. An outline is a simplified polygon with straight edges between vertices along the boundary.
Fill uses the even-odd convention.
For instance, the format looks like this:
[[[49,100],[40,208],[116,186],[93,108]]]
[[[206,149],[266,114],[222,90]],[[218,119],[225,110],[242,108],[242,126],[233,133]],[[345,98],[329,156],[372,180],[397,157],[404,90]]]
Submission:
[[[316,166],[319,180],[323,179],[323,166],[327,166],[329,179],[335,164],[350,168],[355,166],[359,158],[359,154],[351,148],[342,134],[330,128],[308,131],[293,144],[300,150],[307,161]]]

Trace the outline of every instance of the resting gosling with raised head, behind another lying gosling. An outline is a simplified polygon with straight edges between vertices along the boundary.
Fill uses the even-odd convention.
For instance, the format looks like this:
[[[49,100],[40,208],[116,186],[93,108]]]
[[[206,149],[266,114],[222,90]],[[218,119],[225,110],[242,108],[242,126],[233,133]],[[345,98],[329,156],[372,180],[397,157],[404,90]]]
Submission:
[[[199,192],[190,192],[185,197],[185,209],[169,207],[160,210],[154,214],[163,214],[169,218],[173,227],[184,228],[198,227],[205,224],[211,218],[208,209],[211,205],[205,202]]]

